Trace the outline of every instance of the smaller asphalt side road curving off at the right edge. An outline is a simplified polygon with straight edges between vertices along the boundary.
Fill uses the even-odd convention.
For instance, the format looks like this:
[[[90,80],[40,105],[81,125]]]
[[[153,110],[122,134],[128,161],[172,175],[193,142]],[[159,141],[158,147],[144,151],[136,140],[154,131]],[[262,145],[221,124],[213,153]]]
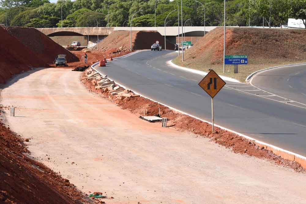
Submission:
[[[260,72],[251,83],[260,89],[306,104],[306,65]]]

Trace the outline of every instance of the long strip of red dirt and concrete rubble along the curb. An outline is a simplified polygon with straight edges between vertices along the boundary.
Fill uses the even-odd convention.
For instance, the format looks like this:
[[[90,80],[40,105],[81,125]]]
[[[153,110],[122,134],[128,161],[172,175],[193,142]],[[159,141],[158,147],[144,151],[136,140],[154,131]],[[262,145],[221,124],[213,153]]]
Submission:
[[[188,115],[177,113],[166,106],[135,95],[130,90],[119,87],[114,81],[110,81],[106,76],[99,75],[98,72],[95,72],[91,68],[83,72],[81,81],[89,91],[97,93],[103,98],[109,98],[111,101],[117,103],[122,109],[128,109],[132,113],[140,116],[144,114],[144,109],[147,111],[146,114],[148,116],[158,115],[160,110],[161,117],[167,117],[169,119],[167,125],[174,126],[178,131],[190,131],[199,136],[208,137],[215,143],[230,148],[235,153],[248,154],[257,158],[267,159],[273,161],[275,164],[294,169],[296,172],[306,173],[306,169],[297,161],[286,160],[274,154],[272,150],[267,150],[265,147],[258,146],[254,141],[250,141],[221,128],[216,128],[216,132],[212,133],[210,124]]]

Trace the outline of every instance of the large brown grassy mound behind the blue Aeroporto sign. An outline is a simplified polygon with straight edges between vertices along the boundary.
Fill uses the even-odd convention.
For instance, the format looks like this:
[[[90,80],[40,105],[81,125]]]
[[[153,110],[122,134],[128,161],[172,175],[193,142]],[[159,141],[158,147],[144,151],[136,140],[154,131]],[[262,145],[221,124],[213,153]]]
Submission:
[[[188,49],[189,63],[223,63],[223,28],[215,28]],[[306,30],[226,28],[226,54],[246,54],[251,64],[306,59]]]

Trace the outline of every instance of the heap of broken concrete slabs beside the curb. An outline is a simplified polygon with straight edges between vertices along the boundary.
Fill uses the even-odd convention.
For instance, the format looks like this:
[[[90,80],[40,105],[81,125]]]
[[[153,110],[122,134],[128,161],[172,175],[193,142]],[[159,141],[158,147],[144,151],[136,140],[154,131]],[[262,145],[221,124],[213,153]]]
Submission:
[[[140,95],[133,93],[129,89],[125,89],[114,81],[110,80],[107,75],[103,76],[91,67],[86,69],[82,79],[90,80],[96,90],[100,90],[101,93],[107,93],[109,98],[119,103],[119,101],[126,98],[139,97]]]

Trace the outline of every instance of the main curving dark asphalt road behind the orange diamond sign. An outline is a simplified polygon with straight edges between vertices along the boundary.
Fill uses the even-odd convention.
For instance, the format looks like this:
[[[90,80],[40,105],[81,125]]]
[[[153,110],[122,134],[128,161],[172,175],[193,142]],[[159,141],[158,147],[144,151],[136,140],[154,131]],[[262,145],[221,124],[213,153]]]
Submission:
[[[176,56],[149,50],[96,68],[142,95],[210,121],[211,98],[198,86],[203,76],[166,65]],[[216,124],[306,156],[306,109],[225,87],[214,98],[214,110]]]

